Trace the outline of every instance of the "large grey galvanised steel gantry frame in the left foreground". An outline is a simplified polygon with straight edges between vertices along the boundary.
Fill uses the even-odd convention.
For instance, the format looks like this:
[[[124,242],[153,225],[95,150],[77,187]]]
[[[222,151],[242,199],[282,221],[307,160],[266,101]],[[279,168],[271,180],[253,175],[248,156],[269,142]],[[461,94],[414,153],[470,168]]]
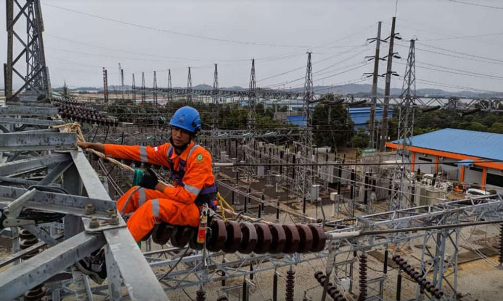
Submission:
[[[22,200],[22,207],[25,209],[65,214],[61,238],[57,238],[57,233],[49,233],[47,227],[34,226],[32,222],[23,220],[22,215],[15,217],[17,219],[14,222],[51,245],[48,250],[22,262],[19,262],[19,258],[26,254],[26,250],[19,249],[16,227],[11,227],[10,231],[3,229],[2,235],[14,238],[14,255],[8,262],[14,261],[17,264],[0,273],[2,298],[17,298],[41,282],[58,282],[61,273],[72,275],[74,280],[81,279],[80,283],[87,289],[84,287],[79,290],[77,287],[74,292],[77,297],[85,297],[86,291],[90,291],[87,278],[77,269],[69,268],[94,250],[105,247],[110,299],[118,300],[122,297],[120,278],[131,299],[141,299],[146,295],[152,296],[152,299],[168,299],[122,218],[119,217],[118,225],[107,224],[110,222],[108,210],[115,210],[115,202],[110,199],[82,150],[76,148],[75,134],[48,128],[61,123],[57,119],[57,110],[25,107],[25,100],[21,94],[19,106],[0,110],[0,115],[4,116],[25,116],[17,122],[24,123],[25,126],[21,127],[16,127],[11,120],[0,120],[3,132],[0,134],[0,148],[4,155],[10,155],[8,162],[0,164],[0,181],[11,185],[61,187],[68,194],[63,192],[65,190],[62,190],[63,193],[37,190],[32,197],[22,200],[21,196],[27,189],[0,186],[0,206],[4,209],[17,204],[14,200]],[[39,112],[33,114],[34,110]],[[40,117],[53,117],[54,123],[48,123],[50,120],[41,120]],[[34,136],[35,133],[44,137]],[[86,212],[89,205],[92,205],[92,214]],[[89,225],[91,217],[98,218],[102,225],[92,228]],[[5,266],[6,262],[1,265]],[[63,288],[68,290],[66,284],[68,283],[63,282],[62,286],[51,286],[53,299],[59,299]]]

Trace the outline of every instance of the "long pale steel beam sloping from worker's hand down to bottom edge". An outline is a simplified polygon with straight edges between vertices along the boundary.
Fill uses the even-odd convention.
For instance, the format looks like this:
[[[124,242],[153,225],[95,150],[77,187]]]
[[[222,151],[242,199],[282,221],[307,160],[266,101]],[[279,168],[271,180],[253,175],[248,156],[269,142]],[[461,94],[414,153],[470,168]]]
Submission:
[[[82,152],[71,155],[87,194],[90,197],[110,200],[85,155]],[[121,219],[120,216],[119,218]],[[129,230],[115,228],[105,230],[103,234],[131,300],[144,299],[147,296],[151,300],[169,300]]]

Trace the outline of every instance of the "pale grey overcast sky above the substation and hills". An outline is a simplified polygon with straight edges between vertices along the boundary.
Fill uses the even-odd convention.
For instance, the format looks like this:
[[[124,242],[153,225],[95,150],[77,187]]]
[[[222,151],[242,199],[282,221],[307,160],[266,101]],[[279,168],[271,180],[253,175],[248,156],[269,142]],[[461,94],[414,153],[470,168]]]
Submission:
[[[45,56],[55,87],[64,80],[72,87],[102,86],[102,67],[108,69],[109,84],[117,85],[119,63],[125,84],[131,84],[134,73],[140,86],[143,71],[146,85],[152,86],[156,70],[158,86],[165,87],[170,68],[173,86],[186,86],[191,66],[193,85],[212,85],[217,63],[220,87],[246,87],[255,58],[257,86],[289,88],[304,84],[307,51],[312,51],[315,85],[371,83],[362,74],[372,72],[373,62],[364,57],[374,54],[374,44],[365,40],[376,36],[378,21],[383,22],[382,38],[389,35],[396,1],[41,3]],[[5,6],[0,11],[5,18]],[[402,59],[394,61],[393,70],[403,75],[408,40],[418,38],[418,88],[503,91],[503,1],[398,0],[396,16],[403,39],[395,51]],[[0,22],[3,41],[5,26]],[[387,51],[382,45],[381,56]],[[382,61],[380,73],[385,69]],[[401,85],[402,78],[395,77],[392,86]]]

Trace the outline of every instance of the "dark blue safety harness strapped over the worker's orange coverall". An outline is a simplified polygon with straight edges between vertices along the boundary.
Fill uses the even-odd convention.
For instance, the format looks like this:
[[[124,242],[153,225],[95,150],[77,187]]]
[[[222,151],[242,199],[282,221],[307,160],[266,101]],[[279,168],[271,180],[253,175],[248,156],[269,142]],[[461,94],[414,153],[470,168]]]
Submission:
[[[189,150],[189,154],[187,155],[187,160],[182,160],[180,158],[180,163],[178,164],[178,170],[174,170],[174,163],[171,160],[171,156],[173,155],[173,146],[169,145],[168,147],[168,163],[171,169],[171,179],[173,182],[176,182],[179,186],[185,186],[182,181],[185,176],[185,166],[187,165],[187,161],[194,152],[194,149],[200,147],[198,144],[194,144]],[[209,187],[205,187],[199,191],[199,194],[196,197],[195,204],[197,206],[203,206],[203,204],[207,204],[209,208],[212,210],[216,210],[216,193],[218,192],[217,186],[213,183]]]

